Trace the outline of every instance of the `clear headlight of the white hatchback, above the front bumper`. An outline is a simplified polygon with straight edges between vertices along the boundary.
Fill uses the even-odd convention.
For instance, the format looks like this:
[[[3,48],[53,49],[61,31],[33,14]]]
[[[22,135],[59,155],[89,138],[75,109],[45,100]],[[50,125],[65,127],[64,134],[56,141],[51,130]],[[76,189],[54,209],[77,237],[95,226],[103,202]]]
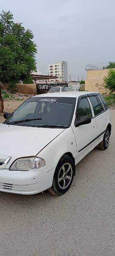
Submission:
[[[9,168],[11,171],[29,171],[30,169],[39,169],[46,165],[43,158],[25,157],[17,159]]]

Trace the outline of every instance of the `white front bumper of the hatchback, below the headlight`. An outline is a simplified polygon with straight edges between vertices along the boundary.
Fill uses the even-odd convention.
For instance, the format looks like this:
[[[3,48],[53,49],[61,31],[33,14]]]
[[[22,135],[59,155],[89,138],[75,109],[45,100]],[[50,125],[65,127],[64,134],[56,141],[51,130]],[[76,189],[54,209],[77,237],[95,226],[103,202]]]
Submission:
[[[52,180],[53,175],[55,172],[55,169],[50,170],[49,172],[45,172],[42,175],[26,178],[26,174],[28,175],[28,172],[23,173],[18,171],[18,175],[13,176],[13,173],[11,171],[8,172],[6,170],[6,173],[9,173],[8,177],[6,177],[5,169],[2,170],[1,173],[0,170],[0,191],[1,192],[10,192],[15,194],[22,194],[22,195],[32,195],[37,194],[40,192],[43,192],[46,189],[49,189],[52,186]],[[3,173],[4,176],[3,177]],[[1,176],[2,175],[2,176]],[[19,178],[20,175],[20,178]],[[10,177],[11,176],[11,177]],[[18,178],[16,178],[18,176]],[[32,176],[32,173],[31,175]]]

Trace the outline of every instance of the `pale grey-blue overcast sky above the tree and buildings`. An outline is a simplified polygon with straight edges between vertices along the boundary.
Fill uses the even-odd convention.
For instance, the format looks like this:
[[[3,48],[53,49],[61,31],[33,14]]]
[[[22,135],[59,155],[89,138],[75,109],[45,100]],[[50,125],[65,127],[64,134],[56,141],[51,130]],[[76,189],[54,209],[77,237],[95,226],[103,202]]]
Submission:
[[[67,61],[72,80],[86,78],[86,65],[115,61],[115,0],[0,0],[0,12],[31,29],[37,69]]]

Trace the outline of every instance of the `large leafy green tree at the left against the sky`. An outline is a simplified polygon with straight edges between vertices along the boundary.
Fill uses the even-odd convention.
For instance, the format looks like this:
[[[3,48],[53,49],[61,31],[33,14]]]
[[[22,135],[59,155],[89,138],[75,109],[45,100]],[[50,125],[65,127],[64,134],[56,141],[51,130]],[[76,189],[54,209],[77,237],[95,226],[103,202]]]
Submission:
[[[33,33],[22,23],[14,23],[11,12],[0,14],[0,83],[9,84],[14,90],[22,80],[31,81],[30,74],[36,71],[35,55],[37,46]],[[3,99],[0,88],[0,112],[3,112]]]

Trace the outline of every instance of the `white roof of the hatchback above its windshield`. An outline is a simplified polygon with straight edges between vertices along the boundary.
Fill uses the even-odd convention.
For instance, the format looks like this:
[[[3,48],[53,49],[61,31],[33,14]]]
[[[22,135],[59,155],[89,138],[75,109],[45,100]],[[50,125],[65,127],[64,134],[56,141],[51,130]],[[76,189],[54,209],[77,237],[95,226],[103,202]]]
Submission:
[[[37,94],[34,97],[68,97],[68,98],[77,98],[78,96],[87,95],[87,94],[95,94],[98,92],[62,92],[62,93],[43,93]]]

